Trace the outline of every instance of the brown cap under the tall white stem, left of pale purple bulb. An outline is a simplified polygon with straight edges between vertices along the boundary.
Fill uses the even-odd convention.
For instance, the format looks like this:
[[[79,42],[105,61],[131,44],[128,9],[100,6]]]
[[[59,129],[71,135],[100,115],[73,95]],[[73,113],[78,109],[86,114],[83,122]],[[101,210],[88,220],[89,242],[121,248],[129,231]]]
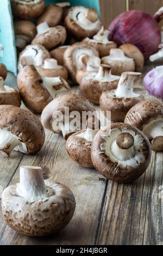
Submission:
[[[140,101],[145,100],[141,95],[138,97],[118,98],[115,97],[114,93],[115,90],[103,92],[99,100],[99,105],[105,114],[107,111],[111,111],[111,121],[113,123],[123,122],[129,109]]]

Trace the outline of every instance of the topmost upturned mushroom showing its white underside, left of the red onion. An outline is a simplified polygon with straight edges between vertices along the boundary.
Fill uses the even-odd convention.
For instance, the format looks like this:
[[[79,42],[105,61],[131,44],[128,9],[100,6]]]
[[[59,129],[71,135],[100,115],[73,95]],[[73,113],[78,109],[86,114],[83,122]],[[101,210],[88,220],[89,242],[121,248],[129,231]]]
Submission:
[[[92,38],[101,26],[95,9],[76,6],[68,9],[65,15],[65,27],[77,39]]]

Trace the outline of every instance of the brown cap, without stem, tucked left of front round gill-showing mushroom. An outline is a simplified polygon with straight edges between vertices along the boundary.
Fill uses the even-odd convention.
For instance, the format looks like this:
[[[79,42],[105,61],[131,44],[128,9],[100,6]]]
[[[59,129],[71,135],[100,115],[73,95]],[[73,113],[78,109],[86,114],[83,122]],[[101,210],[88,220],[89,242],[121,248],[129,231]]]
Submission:
[[[79,163],[81,166],[93,168],[91,160],[91,141],[87,141],[85,138],[78,137],[80,133],[85,130],[73,133],[68,137],[66,141],[66,150],[68,155],[74,162]]]

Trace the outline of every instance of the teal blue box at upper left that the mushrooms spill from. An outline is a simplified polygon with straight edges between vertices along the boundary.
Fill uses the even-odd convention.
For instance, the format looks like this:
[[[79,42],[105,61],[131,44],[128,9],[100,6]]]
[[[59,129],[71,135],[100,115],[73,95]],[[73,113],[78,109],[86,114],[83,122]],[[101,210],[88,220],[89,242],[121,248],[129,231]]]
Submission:
[[[46,0],[46,4],[59,2],[66,1]],[[70,2],[71,6],[84,5],[85,7],[95,8],[100,15],[99,0],[70,0],[67,2]],[[0,62],[4,63],[9,71],[17,75],[16,46],[10,0],[0,0]]]

